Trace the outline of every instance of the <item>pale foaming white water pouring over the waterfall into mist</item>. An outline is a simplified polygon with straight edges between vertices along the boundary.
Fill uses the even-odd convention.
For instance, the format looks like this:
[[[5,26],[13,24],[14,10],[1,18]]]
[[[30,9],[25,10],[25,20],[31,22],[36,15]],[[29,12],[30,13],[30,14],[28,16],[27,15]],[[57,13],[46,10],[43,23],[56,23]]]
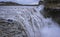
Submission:
[[[39,12],[43,7],[43,5],[39,7],[0,6],[0,17],[20,22],[28,37],[60,37],[60,28],[57,23],[51,18],[44,18]]]

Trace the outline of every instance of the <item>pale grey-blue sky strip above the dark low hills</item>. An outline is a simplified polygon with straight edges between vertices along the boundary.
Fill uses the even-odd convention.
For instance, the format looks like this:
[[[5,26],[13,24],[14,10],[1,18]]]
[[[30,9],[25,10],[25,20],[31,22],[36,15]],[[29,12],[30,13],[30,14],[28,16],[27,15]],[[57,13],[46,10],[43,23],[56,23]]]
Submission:
[[[39,0],[0,0],[0,1],[12,1],[20,4],[38,4]]]

